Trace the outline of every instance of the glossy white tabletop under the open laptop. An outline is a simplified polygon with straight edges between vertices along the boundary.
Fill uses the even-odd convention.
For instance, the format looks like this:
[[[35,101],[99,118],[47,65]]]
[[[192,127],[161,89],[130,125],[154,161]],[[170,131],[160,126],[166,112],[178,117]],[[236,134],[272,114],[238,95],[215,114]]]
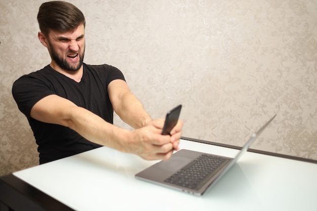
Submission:
[[[187,140],[180,147],[237,153]],[[246,152],[209,192],[194,196],[135,178],[155,162],[101,147],[13,176],[74,210],[317,210],[315,163]]]

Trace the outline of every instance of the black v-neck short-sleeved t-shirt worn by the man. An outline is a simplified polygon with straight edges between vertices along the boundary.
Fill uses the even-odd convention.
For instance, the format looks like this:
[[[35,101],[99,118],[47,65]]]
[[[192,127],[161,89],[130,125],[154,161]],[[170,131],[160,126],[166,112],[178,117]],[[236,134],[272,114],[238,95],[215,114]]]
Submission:
[[[13,97],[29,121],[38,145],[41,164],[100,147],[65,126],[45,123],[30,117],[32,107],[42,98],[58,95],[113,123],[113,108],[107,87],[114,79],[125,80],[124,75],[117,68],[106,64],[83,66],[84,72],[80,82],[48,65],[41,70],[23,75],[13,84]]]

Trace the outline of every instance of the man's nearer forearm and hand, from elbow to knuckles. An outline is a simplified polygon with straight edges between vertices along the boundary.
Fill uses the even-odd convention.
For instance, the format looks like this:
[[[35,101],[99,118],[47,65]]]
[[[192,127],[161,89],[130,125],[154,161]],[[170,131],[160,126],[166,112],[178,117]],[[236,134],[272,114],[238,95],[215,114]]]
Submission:
[[[69,128],[84,138],[125,153],[133,153],[148,160],[169,159],[176,149],[168,136],[154,126],[129,131],[104,121],[90,111],[76,107],[71,111]],[[175,142],[178,145],[179,141]],[[173,148],[174,147],[174,148]]]

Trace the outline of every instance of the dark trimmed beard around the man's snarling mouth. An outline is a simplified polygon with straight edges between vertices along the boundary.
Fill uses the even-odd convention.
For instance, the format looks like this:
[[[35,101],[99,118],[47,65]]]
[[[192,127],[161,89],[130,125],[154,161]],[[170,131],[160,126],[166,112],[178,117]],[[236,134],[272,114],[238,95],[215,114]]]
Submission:
[[[51,45],[50,42],[49,42],[49,45],[50,45],[50,49],[51,49],[51,57],[52,57],[52,59],[62,69],[70,71],[70,72],[76,72],[77,70],[79,70],[82,67],[83,62],[84,62],[84,56],[85,56],[85,47],[84,47],[83,53],[79,52],[78,55],[77,55],[78,57],[80,57],[80,60],[79,60],[78,64],[77,65],[76,64],[71,65],[71,64],[69,64],[67,62],[66,58],[63,58],[63,57],[59,56],[56,53],[56,51],[54,50],[54,47]],[[74,53],[76,53],[76,52],[74,52]]]

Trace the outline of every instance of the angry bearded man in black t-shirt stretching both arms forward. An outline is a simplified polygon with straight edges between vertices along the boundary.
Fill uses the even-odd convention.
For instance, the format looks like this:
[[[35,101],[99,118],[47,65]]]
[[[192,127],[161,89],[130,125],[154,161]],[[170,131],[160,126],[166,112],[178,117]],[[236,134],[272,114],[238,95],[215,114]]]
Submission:
[[[33,131],[40,164],[100,146],[148,160],[169,159],[179,149],[182,121],[170,136],[161,135],[164,119],[151,119],[120,70],[83,63],[86,21],[78,8],[47,2],[37,21],[52,61],[16,80],[12,93]],[[113,110],[135,130],[113,125]]]

